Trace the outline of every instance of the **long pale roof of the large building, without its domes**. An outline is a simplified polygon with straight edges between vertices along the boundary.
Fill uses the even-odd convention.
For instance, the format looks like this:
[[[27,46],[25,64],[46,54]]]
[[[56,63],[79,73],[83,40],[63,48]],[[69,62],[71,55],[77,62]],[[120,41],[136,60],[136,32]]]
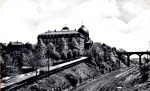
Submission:
[[[57,35],[57,34],[78,34],[79,32],[75,30],[69,30],[69,31],[48,31],[45,33],[42,33],[40,35]]]

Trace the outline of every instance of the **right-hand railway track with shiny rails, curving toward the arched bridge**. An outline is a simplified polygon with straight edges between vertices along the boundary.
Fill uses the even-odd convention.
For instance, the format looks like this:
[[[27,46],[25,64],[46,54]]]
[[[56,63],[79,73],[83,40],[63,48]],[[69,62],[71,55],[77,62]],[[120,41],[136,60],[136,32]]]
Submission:
[[[97,90],[95,91],[112,91],[112,86],[114,83],[118,82],[121,78],[125,77],[126,75],[130,74],[131,72],[135,71],[136,67],[133,67],[131,69],[126,70],[125,72],[116,75],[114,77],[112,77],[111,79],[109,79],[108,81],[106,81],[103,85],[101,85]]]

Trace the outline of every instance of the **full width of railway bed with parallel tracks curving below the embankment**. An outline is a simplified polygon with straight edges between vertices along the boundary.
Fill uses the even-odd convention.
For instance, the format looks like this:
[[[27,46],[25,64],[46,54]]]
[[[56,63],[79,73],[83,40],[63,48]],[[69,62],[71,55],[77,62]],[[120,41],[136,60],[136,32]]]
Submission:
[[[123,68],[112,73],[106,73],[87,83],[85,82],[84,84],[80,84],[76,89],[70,89],[68,91],[112,91],[108,90],[108,88],[113,84],[113,82],[135,68],[136,67]]]

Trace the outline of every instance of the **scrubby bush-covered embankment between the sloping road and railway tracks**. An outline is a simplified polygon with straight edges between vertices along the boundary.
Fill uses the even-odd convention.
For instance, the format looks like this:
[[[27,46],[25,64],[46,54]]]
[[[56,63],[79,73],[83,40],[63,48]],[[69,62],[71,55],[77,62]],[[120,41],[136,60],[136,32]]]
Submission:
[[[23,87],[18,91],[62,91],[75,88],[90,79],[120,68],[116,48],[106,44],[94,43],[84,55],[89,60],[59,73],[53,74],[33,85]]]

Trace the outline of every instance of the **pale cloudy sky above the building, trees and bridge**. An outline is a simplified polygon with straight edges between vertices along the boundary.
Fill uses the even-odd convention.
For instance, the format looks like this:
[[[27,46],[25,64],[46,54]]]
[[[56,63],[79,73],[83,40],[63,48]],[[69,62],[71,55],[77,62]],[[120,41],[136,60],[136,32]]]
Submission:
[[[149,0],[0,0],[0,42],[37,42],[37,35],[81,24],[94,42],[149,50]]]

